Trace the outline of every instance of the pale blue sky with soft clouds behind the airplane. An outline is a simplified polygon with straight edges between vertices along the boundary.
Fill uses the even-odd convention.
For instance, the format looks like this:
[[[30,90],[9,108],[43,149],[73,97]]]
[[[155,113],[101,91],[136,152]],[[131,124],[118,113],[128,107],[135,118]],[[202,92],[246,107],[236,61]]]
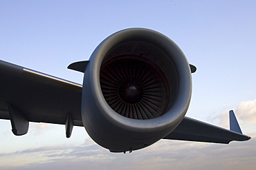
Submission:
[[[252,136],[229,145],[160,140],[110,153],[74,127],[30,123],[15,136],[0,120],[0,169],[255,169],[256,1],[0,1],[0,59],[82,84],[67,70],[107,36],[149,28],[170,37],[196,65],[186,116],[228,129],[234,109]]]

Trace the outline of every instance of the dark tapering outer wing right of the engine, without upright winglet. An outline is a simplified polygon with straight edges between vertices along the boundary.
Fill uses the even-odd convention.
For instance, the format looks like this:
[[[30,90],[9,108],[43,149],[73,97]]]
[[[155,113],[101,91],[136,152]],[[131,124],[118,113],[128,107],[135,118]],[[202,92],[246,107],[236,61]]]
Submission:
[[[239,134],[222,127],[184,117],[180,125],[163,139],[214,142],[228,144],[232,140],[249,140],[250,136]]]

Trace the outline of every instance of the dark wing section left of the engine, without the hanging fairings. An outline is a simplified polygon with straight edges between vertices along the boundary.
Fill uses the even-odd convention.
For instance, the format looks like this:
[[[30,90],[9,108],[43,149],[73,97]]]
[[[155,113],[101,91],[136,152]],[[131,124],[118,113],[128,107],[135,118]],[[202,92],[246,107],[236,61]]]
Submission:
[[[31,122],[65,125],[71,114],[82,126],[82,85],[1,60],[0,82],[0,118],[10,119],[10,103]]]

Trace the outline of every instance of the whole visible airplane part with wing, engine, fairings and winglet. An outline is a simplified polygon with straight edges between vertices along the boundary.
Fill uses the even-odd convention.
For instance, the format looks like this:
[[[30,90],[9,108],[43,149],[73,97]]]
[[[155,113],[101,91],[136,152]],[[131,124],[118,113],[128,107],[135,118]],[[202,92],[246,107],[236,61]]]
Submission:
[[[181,49],[167,36],[129,28],[108,36],[89,61],[68,65],[84,73],[82,85],[0,61],[0,118],[12,133],[28,132],[29,122],[85,127],[98,145],[115,153],[143,149],[158,140],[228,144],[249,140],[234,112],[230,130],[185,116],[192,73]]]

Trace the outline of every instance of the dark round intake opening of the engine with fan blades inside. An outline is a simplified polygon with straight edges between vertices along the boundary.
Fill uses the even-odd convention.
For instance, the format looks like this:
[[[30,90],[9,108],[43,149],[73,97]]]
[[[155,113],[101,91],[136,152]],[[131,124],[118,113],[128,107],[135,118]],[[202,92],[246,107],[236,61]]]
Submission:
[[[114,47],[100,68],[102,94],[109,106],[133,119],[165,114],[167,106],[176,99],[179,87],[172,61],[166,70],[161,69],[166,65],[165,59],[162,59],[165,63],[154,63],[165,57],[160,49],[145,42],[127,42]]]

